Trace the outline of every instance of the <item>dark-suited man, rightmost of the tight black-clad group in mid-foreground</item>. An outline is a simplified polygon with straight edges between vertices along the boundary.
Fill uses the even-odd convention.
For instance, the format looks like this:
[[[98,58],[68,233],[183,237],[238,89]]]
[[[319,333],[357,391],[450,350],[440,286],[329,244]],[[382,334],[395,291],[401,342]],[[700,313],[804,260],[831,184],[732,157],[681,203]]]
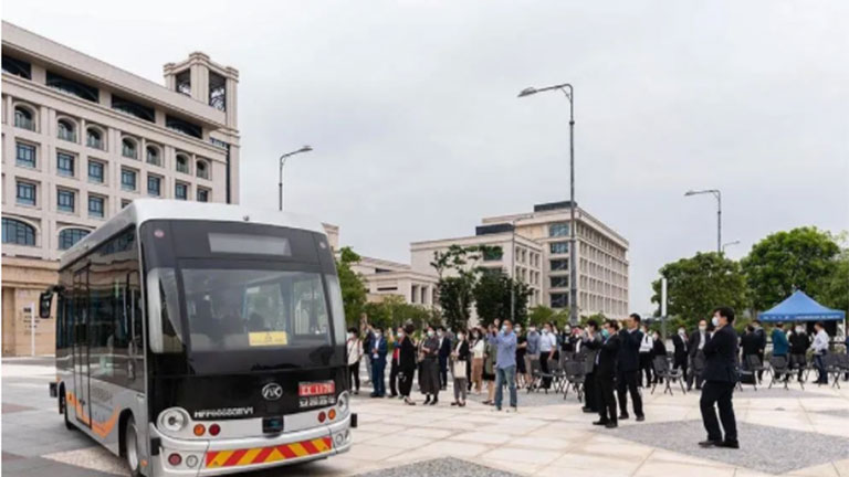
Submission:
[[[642,331],[640,331],[640,316],[631,314],[626,320],[628,329],[619,331],[618,373],[617,373],[617,395],[619,396],[620,420],[627,420],[628,416],[628,394],[631,394],[633,401],[633,414],[637,421],[646,421],[642,414],[642,396],[637,389],[640,382],[640,343],[642,342]]]

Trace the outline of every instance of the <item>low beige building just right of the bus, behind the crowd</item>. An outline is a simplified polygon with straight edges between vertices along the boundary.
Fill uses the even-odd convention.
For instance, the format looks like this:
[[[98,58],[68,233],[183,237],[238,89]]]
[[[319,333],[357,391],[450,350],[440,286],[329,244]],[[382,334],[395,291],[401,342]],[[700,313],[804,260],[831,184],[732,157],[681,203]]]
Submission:
[[[365,256],[352,269],[364,278],[368,301],[398,296],[411,305],[438,306],[436,273],[416,272],[410,265]]]

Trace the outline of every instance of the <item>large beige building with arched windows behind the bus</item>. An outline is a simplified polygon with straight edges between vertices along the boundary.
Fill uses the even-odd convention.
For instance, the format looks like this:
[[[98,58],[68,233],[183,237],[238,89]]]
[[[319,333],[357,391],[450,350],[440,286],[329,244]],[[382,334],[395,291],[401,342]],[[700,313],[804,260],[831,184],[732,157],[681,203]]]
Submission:
[[[7,22],[2,71],[2,353],[29,354],[59,255],[129,201],[239,202],[239,72],[192,53],[159,84]]]

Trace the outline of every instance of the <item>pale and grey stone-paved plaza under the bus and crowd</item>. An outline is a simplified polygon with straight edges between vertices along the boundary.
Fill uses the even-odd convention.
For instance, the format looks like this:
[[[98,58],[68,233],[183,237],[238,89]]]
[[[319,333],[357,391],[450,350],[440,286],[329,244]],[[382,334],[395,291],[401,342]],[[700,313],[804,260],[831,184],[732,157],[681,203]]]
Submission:
[[[81,433],[64,428],[48,396],[49,359],[4,359],[3,476],[125,475],[122,463]],[[318,463],[248,474],[268,476],[716,476],[849,477],[849,385],[751,386],[735,393],[740,451],[703,451],[699,394],[643,395],[647,421],[600,430],[574,395],[520,393],[505,414],[474,396],[467,407],[407,406],[356,396],[359,428],[352,452]],[[450,392],[450,390],[449,390]],[[421,401],[419,399],[419,401]]]

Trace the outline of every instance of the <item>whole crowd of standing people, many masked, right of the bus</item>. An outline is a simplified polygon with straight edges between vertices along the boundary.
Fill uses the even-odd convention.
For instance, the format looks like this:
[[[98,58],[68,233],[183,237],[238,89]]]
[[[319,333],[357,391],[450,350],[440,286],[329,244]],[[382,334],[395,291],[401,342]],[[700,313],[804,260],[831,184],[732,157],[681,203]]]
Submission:
[[[746,369],[750,354],[757,356],[761,362],[765,358],[767,339],[761,322],[753,321],[738,337],[731,326],[733,321],[731,308],[717,308],[710,322],[701,320],[691,332],[681,327],[671,337],[671,368],[686,382],[688,390],[695,386],[702,391],[701,410],[708,432],[708,441],[700,443],[703,446],[738,447],[732,396],[741,379],[740,369],[741,365]],[[786,331],[783,324],[777,324],[771,336],[772,353],[792,358],[804,367],[807,352],[813,350],[821,381],[827,379],[821,357],[827,352],[829,339],[821,322],[815,330],[816,335],[810,337],[801,325]],[[662,379],[654,372],[653,363],[657,357],[670,356],[665,340],[650,330],[637,314],[622,322],[590,319],[585,326],[566,326],[563,330],[552,322],[523,330],[510,320],[494,320],[486,327],[454,332],[441,326],[417,330],[406,325],[391,330],[364,324],[361,330],[348,330],[347,350],[355,394],[359,393],[359,369],[365,361],[374,389],[371,398],[397,396],[408,405],[416,405],[411,392],[418,375],[423,404],[437,405],[451,377],[452,406],[465,406],[469,393],[485,393],[483,404],[492,405],[495,411],[506,407],[506,412],[517,412],[517,389],[549,390],[549,367],[565,354],[585,364],[583,411],[597,413],[599,417],[594,424],[607,428],[630,418],[629,400],[636,421],[646,420],[640,388]],[[507,406],[504,405],[505,388]],[[714,406],[719,409],[719,420]]]

